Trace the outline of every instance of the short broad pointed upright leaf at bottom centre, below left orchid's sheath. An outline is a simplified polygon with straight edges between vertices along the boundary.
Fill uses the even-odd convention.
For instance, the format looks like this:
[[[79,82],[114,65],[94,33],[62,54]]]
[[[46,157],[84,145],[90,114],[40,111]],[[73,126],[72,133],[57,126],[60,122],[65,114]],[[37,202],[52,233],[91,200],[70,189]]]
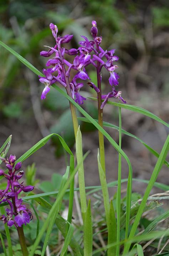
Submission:
[[[84,256],[92,256],[93,248],[93,228],[92,228],[92,213],[91,213],[91,201],[89,199],[87,212],[84,219]]]

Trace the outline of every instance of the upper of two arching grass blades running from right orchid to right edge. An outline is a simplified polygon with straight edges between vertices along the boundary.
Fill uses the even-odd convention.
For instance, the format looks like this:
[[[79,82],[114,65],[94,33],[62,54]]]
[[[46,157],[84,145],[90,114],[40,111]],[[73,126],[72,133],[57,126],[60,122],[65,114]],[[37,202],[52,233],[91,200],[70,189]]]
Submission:
[[[93,97],[88,97],[91,100],[97,100],[97,98],[93,98]],[[158,116],[154,115],[152,112],[142,108],[142,107],[138,107],[138,106],[134,106],[134,105],[129,105],[129,104],[122,104],[122,103],[117,103],[117,102],[113,102],[113,101],[108,101],[107,104],[109,105],[113,105],[115,107],[122,107],[122,108],[126,108],[128,110],[134,111],[134,112],[138,112],[144,116],[148,116],[158,122],[160,122],[161,124],[169,127],[169,124],[167,124],[165,121],[163,121],[162,119],[160,119]]]

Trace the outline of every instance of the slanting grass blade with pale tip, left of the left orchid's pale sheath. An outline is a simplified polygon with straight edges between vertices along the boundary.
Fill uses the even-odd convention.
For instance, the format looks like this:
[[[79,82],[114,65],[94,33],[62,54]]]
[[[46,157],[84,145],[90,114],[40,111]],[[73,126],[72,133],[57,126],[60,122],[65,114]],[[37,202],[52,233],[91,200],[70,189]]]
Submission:
[[[60,185],[60,189],[59,189],[57,198],[58,198],[59,195],[61,194],[61,191],[62,191],[62,189],[64,188],[64,186],[65,186],[65,184],[66,184],[66,182],[67,182],[67,180],[68,180],[69,169],[70,169],[70,167],[67,166],[67,168],[66,168],[66,173],[63,175],[62,180],[61,180],[61,185]],[[47,228],[45,241],[44,241],[44,243],[43,243],[43,248],[42,248],[42,253],[41,253],[42,256],[45,255],[46,247],[47,247],[47,245],[48,245],[48,242],[49,242],[49,239],[50,239],[50,236],[51,236],[52,228],[53,228],[53,225],[54,225],[54,223],[55,223],[55,219],[56,219],[57,213],[58,213],[58,212],[60,211],[60,209],[61,209],[62,199],[63,199],[63,196],[59,199],[59,202],[58,202],[58,204],[56,205],[55,209],[53,210],[53,214],[52,214],[52,216],[51,216],[51,218],[50,218],[50,223],[49,223],[48,228]],[[56,199],[56,200],[57,200],[57,199]]]

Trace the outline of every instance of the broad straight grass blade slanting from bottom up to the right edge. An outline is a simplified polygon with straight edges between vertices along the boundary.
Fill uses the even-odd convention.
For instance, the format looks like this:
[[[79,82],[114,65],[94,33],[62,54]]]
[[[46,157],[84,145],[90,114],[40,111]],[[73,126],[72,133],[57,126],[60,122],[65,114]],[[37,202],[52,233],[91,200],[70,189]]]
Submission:
[[[158,174],[159,174],[159,172],[160,172],[160,170],[162,168],[162,165],[163,165],[164,160],[165,160],[165,158],[167,156],[168,150],[169,150],[169,135],[168,135],[168,137],[167,137],[167,139],[166,139],[166,141],[164,143],[162,151],[161,151],[161,153],[159,155],[159,158],[158,158],[157,163],[155,165],[155,168],[153,170],[152,176],[151,176],[151,178],[149,180],[148,186],[147,186],[147,188],[145,190],[145,193],[144,193],[144,196],[143,196],[143,200],[142,200],[142,202],[140,204],[140,207],[138,209],[138,212],[137,212],[137,215],[135,217],[134,223],[132,225],[132,229],[130,231],[129,238],[133,238],[134,237],[134,234],[135,234],[135,231],[137,230],[137,227],[138,227],[140,218],[142,216],[145,204],[147,202],[149,193],[150,193],[151,189],[153,188],[155,180],[157,179]],[[124,253],[127,253],[129,251],[130,245],[131,245],[130,242],[126,244],[126,246],[124,247]]]

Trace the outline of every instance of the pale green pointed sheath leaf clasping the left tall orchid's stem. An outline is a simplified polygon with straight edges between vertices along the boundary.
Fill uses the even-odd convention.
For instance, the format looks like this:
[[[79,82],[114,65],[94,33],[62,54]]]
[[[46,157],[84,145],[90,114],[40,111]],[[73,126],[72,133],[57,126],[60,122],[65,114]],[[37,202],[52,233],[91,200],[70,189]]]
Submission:
[[[78,180],[79,180],[81,212],[82,212],[82,217],[84,222],[85,214],[87,211],[87,204],[86,204],[86,190],[85,190],[85,183],[84,183],[82,134],[80,131],[80,126],[78,127],[77,136],[76,136],[76,158],[77,158],[77,165],[78,165]]]

